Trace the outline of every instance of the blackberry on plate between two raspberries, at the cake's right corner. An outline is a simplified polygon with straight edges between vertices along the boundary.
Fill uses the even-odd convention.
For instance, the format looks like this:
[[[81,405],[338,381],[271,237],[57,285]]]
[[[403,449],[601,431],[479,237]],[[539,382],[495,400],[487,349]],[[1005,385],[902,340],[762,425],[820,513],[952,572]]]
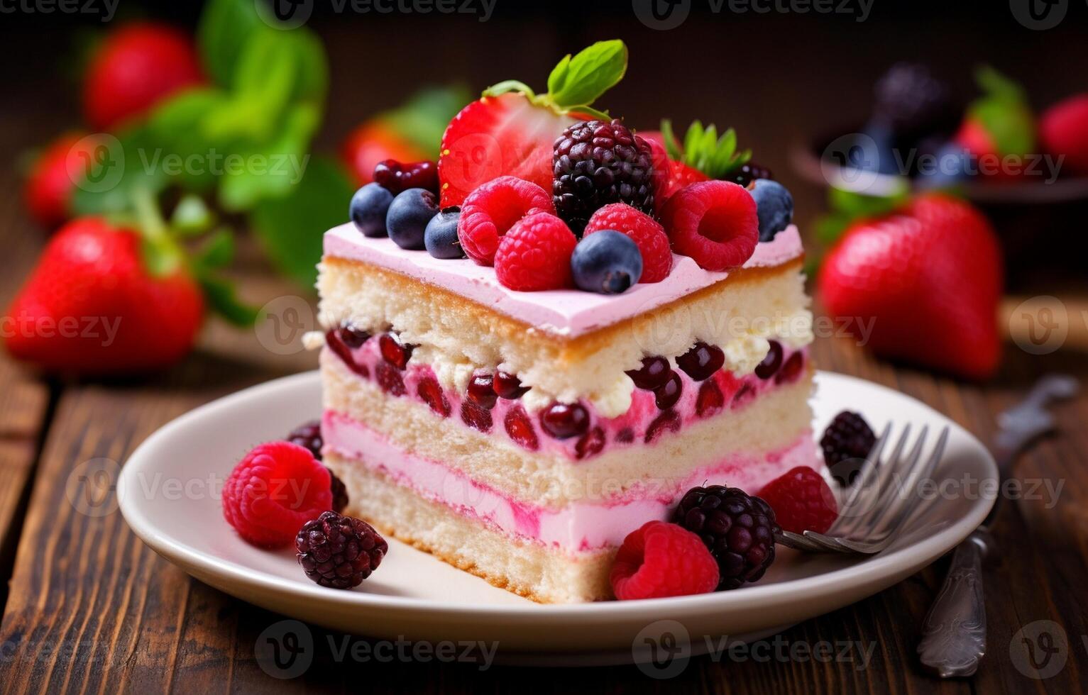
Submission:
[[[775,561],[774,510],[737,487],[692,487],[677,505],[672,521],[710,549],[721,573],[717,591],[758,580]]]

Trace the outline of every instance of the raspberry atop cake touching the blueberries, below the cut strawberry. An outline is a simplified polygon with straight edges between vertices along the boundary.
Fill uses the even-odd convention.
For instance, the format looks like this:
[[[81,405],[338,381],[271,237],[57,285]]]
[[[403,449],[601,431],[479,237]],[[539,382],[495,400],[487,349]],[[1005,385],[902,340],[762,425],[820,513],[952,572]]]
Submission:
[[[461,248],[480,265],[494,265],[499,237],[534,209],[555,212],[551,196],[536,184],[516,176],[482,184],[461,203],[457,224]]]

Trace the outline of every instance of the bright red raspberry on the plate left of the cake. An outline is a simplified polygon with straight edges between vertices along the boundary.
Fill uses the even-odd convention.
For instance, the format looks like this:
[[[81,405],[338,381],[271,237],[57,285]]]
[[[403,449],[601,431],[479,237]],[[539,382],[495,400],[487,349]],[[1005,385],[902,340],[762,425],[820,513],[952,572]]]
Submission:
[[[297,444],[255,447],[223,485],[223,517],[256,546],[277,548],[298,529],[332,508],[329,469]]]

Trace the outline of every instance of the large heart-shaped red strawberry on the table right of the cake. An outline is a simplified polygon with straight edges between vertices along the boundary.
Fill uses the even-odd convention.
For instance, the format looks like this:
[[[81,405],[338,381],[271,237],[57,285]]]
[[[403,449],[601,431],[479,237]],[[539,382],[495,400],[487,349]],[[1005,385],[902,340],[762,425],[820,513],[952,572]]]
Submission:
[[[877,353],[984,378],[1001,359],[1002,261],[990,223],[966,202],[916,198],[855,223],[828,253],[818,287]],[[871,325],[870,325],[871,324]]]

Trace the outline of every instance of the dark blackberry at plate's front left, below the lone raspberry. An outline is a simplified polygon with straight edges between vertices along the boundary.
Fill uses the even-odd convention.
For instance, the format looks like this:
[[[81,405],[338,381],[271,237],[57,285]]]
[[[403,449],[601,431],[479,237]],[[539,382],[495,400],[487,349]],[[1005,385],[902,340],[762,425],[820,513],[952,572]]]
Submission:
[[[382,563],[390,545],[366,521],[326,511],[295,536],[306,575],[330,588],[351,588]]]

